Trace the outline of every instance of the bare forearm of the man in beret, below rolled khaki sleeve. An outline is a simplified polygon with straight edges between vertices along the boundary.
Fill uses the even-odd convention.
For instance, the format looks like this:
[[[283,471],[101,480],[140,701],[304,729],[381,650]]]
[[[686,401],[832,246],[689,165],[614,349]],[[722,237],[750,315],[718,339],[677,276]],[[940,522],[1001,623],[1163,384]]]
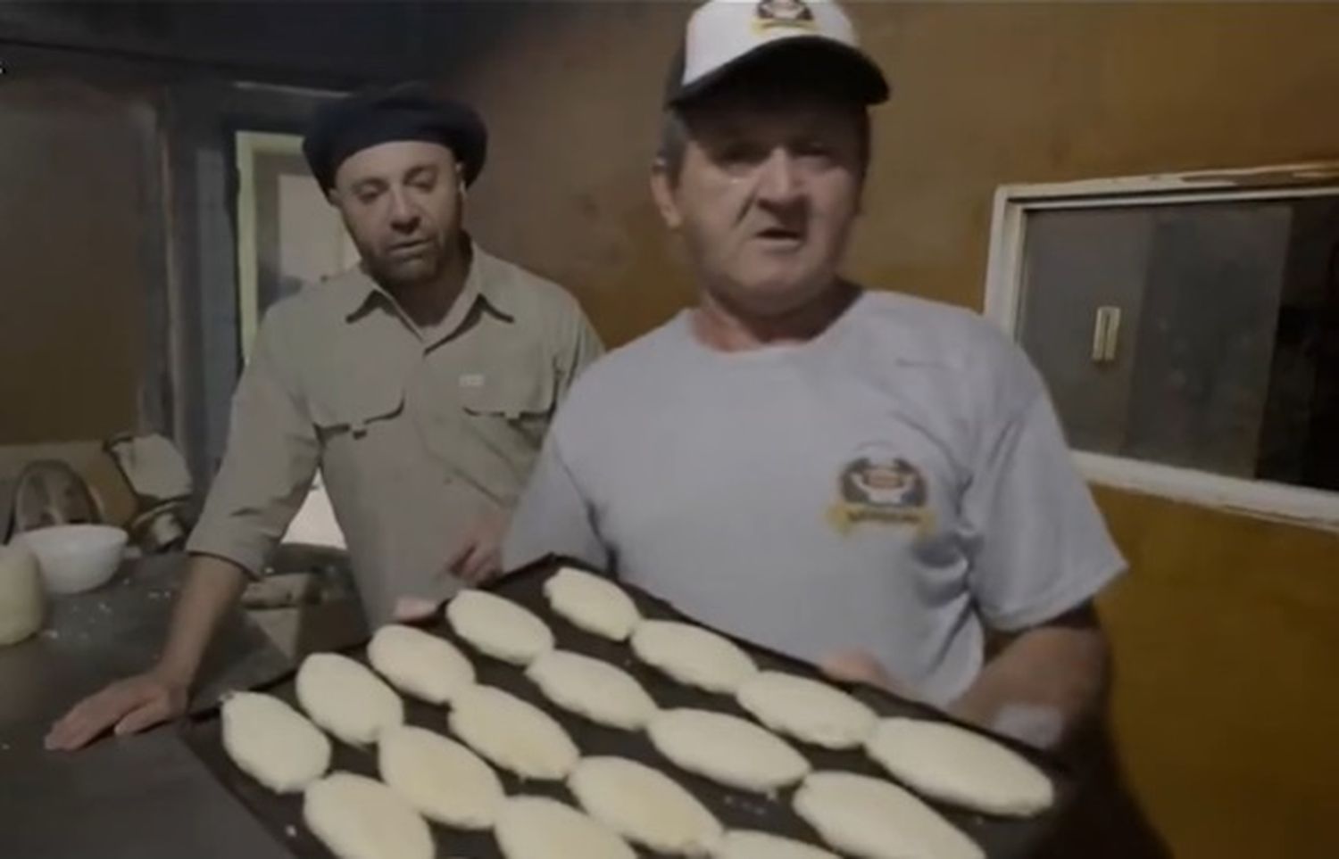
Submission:
[[[220,621],[241,597],[245,585],[246,573],[236,563],[191,555],[155,673],[190,685]]]

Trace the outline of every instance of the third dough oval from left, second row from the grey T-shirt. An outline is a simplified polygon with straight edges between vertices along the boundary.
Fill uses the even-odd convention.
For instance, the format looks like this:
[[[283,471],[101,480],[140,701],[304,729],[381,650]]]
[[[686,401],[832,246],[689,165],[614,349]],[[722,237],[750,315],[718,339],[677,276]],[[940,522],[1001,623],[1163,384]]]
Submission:
[[[809,772],[809,761],[789,743],[726,713],[664,710],[647,732],[676,765],[726,787],[770,793]]]

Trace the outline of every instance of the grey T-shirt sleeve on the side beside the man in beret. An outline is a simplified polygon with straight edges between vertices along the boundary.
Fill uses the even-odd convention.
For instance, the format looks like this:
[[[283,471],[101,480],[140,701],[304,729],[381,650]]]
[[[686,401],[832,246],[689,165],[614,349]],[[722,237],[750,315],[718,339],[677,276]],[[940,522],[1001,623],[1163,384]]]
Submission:
[[[550,431],[530,482],[511,514],[502,543],[502,569],[516,570],[548,554],[568,555],[605,569],[609,553],[592,522],[582,494],[561,452],[558,434]]]

